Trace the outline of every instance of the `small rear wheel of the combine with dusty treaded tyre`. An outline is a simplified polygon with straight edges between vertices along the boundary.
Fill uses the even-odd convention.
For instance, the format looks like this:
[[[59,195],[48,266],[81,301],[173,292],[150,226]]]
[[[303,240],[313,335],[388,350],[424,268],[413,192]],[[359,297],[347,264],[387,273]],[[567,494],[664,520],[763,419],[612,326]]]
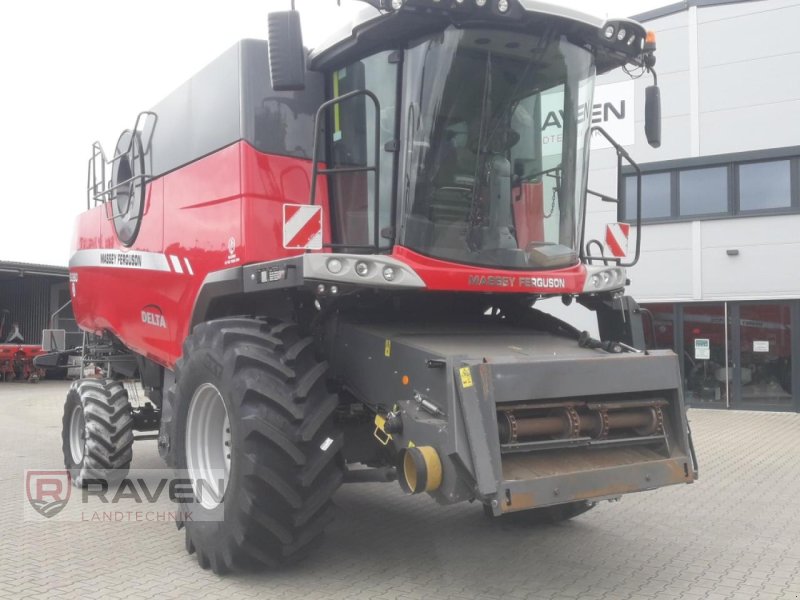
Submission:
[[[133,417],[122,384],[102,379],[74,382],[64,403],[61,441],[64,466],[74,485],[125,477],[133,458]]]

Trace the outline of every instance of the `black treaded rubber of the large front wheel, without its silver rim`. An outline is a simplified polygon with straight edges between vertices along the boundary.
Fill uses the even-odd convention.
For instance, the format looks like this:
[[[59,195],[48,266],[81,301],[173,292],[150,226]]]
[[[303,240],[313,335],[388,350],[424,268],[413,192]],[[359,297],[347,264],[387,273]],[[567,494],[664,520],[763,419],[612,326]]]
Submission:
[[[343,437],[333,425],[338,398],[326,387],[328,364],[315,358],[313,339],[301,336],[295,323],[264,318],[200,324],[183,347],[170,391],[177,405],[191,397],[191,385],[181,387],[182,375],[198,352],[207,352],[232,382],[230,401],[241,425],[233,440],[241,445],[235,505],[225,507],[218,536],[200,535],[186,523],[187,551],[219,574],[298,560],[330,522],[332,496],[343,480]],[[324,443],[327,438],[332,442]]]

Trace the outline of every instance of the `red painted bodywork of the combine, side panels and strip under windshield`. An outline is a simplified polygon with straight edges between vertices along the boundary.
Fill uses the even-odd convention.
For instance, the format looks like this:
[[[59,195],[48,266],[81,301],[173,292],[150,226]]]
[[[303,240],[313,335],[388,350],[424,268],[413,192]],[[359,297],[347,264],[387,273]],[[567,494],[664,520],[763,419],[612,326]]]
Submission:
[[[83,213],[73,252],[95,253],[79,252],[91,254],[91,260],[70,263],[78,324],[98,333],[108,330],[135,352],[172,368],[209,273],[301,253],[283,247],[282,207],[307,203],[310,183],[309,161],[265,155],[239,142],[152,181],[131,248],[119,243],[105,206]],[[324,176],[316,199],[326,216],[327,242]],[[401,246],[393,256],[430,290],[579,293],[586,279],[582,265],[547,272],[498,270],[452,264]]]

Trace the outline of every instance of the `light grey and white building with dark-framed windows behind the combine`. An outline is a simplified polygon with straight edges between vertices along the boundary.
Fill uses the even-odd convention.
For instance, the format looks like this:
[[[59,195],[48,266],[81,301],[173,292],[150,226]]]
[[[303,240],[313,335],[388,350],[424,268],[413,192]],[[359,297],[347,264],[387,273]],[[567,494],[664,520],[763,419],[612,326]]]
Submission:
[[[688,0],[634,18],[656,32],[663,115],[653,149],[652,78],[635,79],[643,224],[629,292],[647,336],[681,357],[693,406],[800,411],[800,4]],[[590,188],[620,202],[589,201],[587,239],[634,218],[623,173],[618,189],[614,151],[593,152]]]

